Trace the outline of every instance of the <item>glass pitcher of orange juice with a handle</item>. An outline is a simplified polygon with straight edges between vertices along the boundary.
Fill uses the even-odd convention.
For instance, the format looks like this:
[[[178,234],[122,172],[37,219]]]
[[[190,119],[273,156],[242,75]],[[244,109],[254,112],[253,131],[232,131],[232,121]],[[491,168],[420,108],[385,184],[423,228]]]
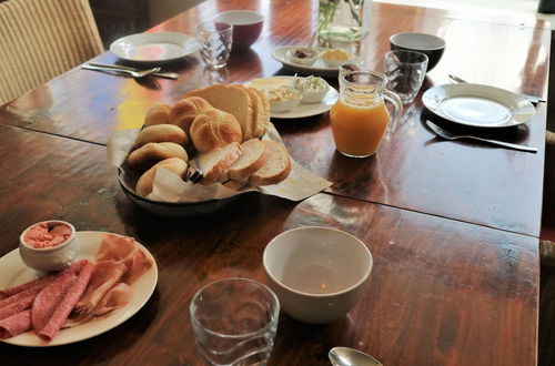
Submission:
[[[340,72],[340,98],[330,111],[335,148],[343,155],[373,155],[387,125],[394,125],[403,111],[398,96],[385,89],[387,78],[373,71]],[[385,101],[394,106],[393,116]]]

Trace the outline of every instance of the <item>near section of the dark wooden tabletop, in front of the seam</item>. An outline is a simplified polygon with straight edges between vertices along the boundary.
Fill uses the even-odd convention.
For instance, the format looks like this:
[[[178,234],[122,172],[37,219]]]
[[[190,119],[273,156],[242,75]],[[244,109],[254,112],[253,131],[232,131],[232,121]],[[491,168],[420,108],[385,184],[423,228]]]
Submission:
[[[134,206],[117,186],[105,149],[0,125],[0,255],[46,218],[78,231],[134,236],[159,282],[125,323],[52,348],[0,344],[2,365],[202,365],[188,306],[202,285],[246,276],[265,283],[262,253],[284,230],[324,225],[366,243],[374,268],[349,316],[311,326],[281,314],[271,365],[327,365],[332,346],[385,365],[534,365],[537,240],[330,194],[302,203],[246,195],[210,216],[169,220]]]

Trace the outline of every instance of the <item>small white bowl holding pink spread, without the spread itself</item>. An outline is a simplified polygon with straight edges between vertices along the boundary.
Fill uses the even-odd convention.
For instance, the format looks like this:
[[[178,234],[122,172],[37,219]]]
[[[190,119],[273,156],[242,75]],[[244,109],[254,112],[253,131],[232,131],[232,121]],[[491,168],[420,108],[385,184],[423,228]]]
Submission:
[[[27,233],[34,226],[47,223],[49,227],[65,225],[71,230],[70,236],[56,246],[36,248],[26,243]],[[19,237],[19,255],[23,263],[37,271],[51,272],[67,268],[73,263],[79,254],[80,242],[75,234],[75,227],[65,221],[49,220],[33,224],[26,228]]]

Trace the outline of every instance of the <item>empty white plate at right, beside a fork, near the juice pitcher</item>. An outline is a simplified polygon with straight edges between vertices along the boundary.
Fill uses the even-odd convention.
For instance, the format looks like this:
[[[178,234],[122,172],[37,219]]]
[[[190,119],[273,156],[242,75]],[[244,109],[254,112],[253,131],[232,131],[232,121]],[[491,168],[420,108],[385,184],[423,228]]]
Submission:
[[[507,90],[481,84],[446,84],[424,92],[422,102],[434,114],[475,128],[506,128],[526,123],[534,105]]]

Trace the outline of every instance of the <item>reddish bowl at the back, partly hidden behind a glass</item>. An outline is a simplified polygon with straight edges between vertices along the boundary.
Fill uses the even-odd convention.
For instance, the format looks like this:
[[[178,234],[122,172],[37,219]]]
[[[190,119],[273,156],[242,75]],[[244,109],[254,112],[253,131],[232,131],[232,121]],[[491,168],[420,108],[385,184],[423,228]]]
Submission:
[[[215,21],[233,24],[232,49],[246,49],[259,39],[264,18],[256,11],[229,10],[216,14]]]

